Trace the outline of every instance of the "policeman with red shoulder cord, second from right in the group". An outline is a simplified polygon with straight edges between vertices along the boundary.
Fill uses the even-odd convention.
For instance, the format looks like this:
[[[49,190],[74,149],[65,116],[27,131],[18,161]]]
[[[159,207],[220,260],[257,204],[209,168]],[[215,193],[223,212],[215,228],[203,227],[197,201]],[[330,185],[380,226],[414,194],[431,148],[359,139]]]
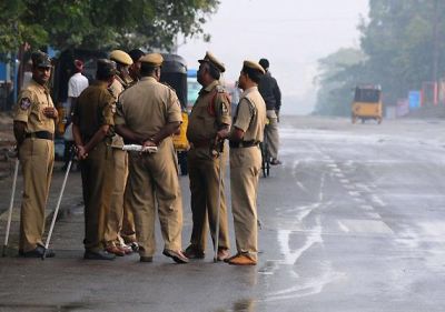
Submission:
[[[217,213],[219,209],[219,240],[217,259],[229,256],[226,197],[224,192],[224,172],[226,152],[224,139],[230,127],[230,99],[219,82],[220,73],[226,69],[210,52],[199,60],[198,82],[202,85],[189,117],[187,139],[190,150],[187,153],[190,178],[191,213],[194,228],[190,245],[185,254],[188,258],[205,256],[207,219],[215,243]],[[221,167],[221,170],[220,168]],[[219,177],[221,172],[222,177]],[[221,183],[219,188],[219,183]],[[218,207],[220,192],[220,207]]]

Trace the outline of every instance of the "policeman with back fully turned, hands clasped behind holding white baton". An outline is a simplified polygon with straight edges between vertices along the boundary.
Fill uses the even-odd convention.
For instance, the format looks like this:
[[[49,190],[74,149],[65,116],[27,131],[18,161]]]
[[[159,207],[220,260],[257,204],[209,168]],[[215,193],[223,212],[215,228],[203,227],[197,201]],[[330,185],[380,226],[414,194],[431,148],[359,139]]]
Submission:
[[[151,262],[156,250],[155,215],[158,215],[164,254],[177,263],[187,263],[181,252],[182,203],[172,133],[182,121],[175,91],[159,83],[162,56],[141,58],[141,80],[119,98],[116,131],[128,143],[157,147],[156,153],[129,153],[126,201],[134,210],[136,236],[141,262]],[[157,205],[156,205],[157,201]]]

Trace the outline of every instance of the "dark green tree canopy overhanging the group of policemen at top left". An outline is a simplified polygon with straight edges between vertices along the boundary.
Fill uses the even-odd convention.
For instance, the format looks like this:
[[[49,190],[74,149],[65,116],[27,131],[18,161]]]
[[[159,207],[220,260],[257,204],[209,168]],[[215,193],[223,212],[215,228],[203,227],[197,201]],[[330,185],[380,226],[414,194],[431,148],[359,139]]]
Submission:
[[[24,42],[58,50],[170,50],[178,33],[204,34],[201,26],[218,4],[219,0],[3,0],[0,53]]]

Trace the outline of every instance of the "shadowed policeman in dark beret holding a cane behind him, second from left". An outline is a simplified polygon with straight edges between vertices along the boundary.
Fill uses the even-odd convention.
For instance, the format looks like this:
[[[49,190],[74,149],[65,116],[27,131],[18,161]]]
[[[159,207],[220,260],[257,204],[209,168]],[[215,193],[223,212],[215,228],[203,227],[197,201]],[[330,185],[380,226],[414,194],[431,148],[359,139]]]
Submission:
[[[85,202],[85,259],[113,260],[105,251],[105,228],[115,188],[115,162],[111,128],[116,100],[108,87],[115,80],[116,63],[100,59],[97,81],[79,95],[72,114]]]

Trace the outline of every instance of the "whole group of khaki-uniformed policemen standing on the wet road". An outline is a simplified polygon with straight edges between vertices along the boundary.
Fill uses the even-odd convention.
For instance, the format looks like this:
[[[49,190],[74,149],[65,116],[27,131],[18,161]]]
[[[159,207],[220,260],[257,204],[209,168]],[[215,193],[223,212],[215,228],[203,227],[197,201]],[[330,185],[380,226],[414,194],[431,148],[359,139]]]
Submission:
[[[23,172],[19,253],[44,252],[44,207],[55,161],[53,137],[58,112],[47,82],[51,62],[32,53],[32,81],[21,90],[13,131]],[[257,188],[261,167],[259,143],[266,104],[258,92],[265,69],[244,61],[243,89],[234,119],[230,98],[220,83],[225,66],[210,52],[199,60],[202,85],[187,129],[192,232],[182,251],[182,200],[172,135],[179,131],[181,109],[176,92],[160,83],[162,56],[140,50],[115,50],[97,61],[96,81],[77,98],[72,132],[80,161],[85,202],[85,259],[112,260],[138,251],[151,262],[156,251],[158,213],[162,253],[177,263],[202,259],[208,229],[216,260],[235,265],[257,263]],[[229,141],[229,152],[225,148]],[[142,150],[123,151],[123,144]],[[229,157],[231,210],[237,252],[230,255],[225,165]],[[55,256],[52,250],[47,256]]]

